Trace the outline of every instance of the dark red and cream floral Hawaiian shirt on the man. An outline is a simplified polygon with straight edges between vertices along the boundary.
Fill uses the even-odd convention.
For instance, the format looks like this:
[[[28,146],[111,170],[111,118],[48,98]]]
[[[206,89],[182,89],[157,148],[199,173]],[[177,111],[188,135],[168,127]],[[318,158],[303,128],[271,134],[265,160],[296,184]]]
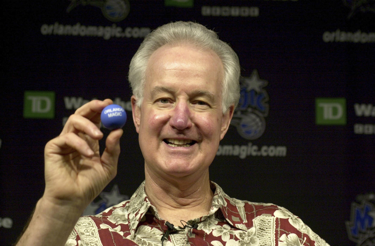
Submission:
[[[187,226],[174,226],[163,246],[329,246],[285,208],[230,198],[213,182],[211,189],[209,213],[182,222]],[[65,246],[160,246],[168,230],[165,222],[143,182],[130,200],[80,217]]]

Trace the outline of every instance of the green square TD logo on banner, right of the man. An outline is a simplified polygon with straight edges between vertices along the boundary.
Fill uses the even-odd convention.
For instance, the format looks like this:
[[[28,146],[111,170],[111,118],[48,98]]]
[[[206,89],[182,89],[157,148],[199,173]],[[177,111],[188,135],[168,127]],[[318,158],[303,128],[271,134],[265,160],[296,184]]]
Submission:
[[[317,125],[345,125],[347,105],[345,98],[315,98],[315,123]]]

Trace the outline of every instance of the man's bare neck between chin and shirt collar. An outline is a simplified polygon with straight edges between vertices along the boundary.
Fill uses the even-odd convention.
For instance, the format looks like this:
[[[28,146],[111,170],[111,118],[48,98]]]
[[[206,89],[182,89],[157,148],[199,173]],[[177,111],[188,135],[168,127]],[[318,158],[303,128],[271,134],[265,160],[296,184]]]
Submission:
[[[165,180],[145,170],[145,191],[161,219],[179,225],[208,214],[213,193],[208,170],[198,179],[179,177]]]

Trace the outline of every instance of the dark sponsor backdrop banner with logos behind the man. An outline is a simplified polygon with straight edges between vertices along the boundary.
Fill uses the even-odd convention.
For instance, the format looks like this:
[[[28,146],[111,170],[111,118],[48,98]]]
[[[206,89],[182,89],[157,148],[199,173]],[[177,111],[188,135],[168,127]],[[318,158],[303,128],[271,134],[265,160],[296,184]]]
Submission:
[[[0,245],[17,239],[43,194],[46,142],[92,99],[111,98],[130,116],[130,59],[176,20],[216,31],[242,66],[211,180],[232,197],[288,208],[331,245],[375,245],[374,0],[3,5]],[[121,148],[117,177],[85,214],[129,198],[144,179],[131,119]]]

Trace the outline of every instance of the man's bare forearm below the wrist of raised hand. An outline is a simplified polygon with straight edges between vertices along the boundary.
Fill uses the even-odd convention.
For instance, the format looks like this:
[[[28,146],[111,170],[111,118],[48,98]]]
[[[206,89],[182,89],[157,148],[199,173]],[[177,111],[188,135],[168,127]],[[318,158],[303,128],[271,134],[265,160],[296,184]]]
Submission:
[[[82,211],[68,204],[39,199],[30,223],[16,246],[62,246]]]

